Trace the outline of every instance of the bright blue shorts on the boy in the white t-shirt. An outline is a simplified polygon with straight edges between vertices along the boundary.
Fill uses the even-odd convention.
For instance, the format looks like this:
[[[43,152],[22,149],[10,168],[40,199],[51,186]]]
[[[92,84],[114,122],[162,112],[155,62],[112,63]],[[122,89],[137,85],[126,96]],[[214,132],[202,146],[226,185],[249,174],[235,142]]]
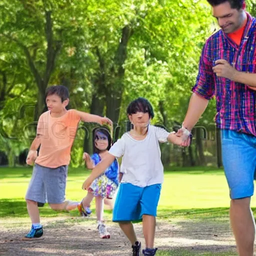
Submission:
[[[141,220],[143,214],[156,216],[161,184],[139,187],[121,183],[116,195],[113,221]]]

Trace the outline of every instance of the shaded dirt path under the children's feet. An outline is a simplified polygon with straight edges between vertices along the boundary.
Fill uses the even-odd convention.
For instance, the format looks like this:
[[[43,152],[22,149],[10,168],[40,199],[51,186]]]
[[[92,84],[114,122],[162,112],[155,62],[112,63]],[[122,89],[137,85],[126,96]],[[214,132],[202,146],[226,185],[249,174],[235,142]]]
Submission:
[[[0,255],[131,255],[130,244],[117,224],[107,222],[110,239],[100,239],[91,221],[68,221],[67,218],[44,220],[44,239],[21,241],[27,226],[1,227]],[[141,224],[135,224],[142,241]],[[159,250],[187,249],[189,251],[234,251],[234,239],[228,221],[192,222],[160,221],[156,227],[155,245]],[[170,255],[178,255],[170,254]]]

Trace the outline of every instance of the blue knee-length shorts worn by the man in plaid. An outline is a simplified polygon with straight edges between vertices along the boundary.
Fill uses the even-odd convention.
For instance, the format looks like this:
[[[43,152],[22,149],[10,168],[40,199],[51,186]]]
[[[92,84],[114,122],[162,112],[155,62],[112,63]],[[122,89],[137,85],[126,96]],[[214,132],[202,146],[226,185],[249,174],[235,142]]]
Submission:
[[[256,167],[256,137],[221,130],[222,162],[231,199],[253,195]]]

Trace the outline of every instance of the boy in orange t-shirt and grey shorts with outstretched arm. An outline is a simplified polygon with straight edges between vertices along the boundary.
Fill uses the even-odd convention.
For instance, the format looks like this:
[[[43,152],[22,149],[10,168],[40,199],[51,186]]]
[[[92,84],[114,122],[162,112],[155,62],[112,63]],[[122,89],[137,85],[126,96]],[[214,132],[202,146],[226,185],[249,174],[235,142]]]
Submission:
[[[48,111],[39,117],[36,138],[26,159],[27,164],[35,162],[25,196],[32,227],[22,240],[42,239],[43,229],[37,202],[45,202],[47,198],[53,210],[70,210],[76,207],[76,203],[65,201],[65,186],[70,150],[79,121],[112,125],[107,117],[75,109],[66,110],[69,93],[65,86],[48,87],[45,100]],[[36,149],[39,145],[37,156]]]

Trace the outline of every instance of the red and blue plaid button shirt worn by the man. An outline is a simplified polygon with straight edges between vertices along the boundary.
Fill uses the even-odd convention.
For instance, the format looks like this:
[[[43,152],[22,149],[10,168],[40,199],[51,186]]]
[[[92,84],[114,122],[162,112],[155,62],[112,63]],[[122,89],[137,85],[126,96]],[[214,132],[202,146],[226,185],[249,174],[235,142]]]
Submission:
[[[256,91],[212,71],[215,60],[225,59],[238,71],[256,73],[256,19],[248,13],[247,17],[239,46],[222,29],[206,40],[192,91],[206,99],[215,95],[217,127],[256,136]]]

